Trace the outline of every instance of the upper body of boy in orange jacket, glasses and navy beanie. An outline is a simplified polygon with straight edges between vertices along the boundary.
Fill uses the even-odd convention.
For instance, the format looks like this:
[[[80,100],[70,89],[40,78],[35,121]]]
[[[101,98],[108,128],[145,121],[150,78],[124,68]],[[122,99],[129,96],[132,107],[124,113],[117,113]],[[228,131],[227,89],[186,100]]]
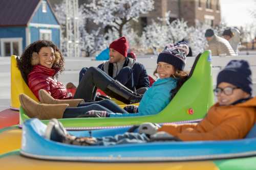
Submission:
[[[220,71],[214,90],[218,103],[198,124],[164,125],[183,141],[242,139],[255,122],[256,98],[251,97],[251,70],[245,60],[232,60]]]

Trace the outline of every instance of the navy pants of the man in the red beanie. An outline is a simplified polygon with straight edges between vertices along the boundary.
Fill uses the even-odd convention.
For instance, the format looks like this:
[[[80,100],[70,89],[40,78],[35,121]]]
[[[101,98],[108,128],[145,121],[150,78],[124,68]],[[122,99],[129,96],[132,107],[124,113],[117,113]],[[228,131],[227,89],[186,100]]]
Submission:
[[[79,84],[82,80],[82,77],[86,74],[89,68],[83,67],[79,72]],[[104,72],[104,71],[103,71]],[[105,73],[106,74],[106,73]],[[107,75],[107,74],[106,74]],[[119,81],[125,87],[135,91],[135,85],[133,81],[133,70],[131,67],[123,67],[114,80]]]

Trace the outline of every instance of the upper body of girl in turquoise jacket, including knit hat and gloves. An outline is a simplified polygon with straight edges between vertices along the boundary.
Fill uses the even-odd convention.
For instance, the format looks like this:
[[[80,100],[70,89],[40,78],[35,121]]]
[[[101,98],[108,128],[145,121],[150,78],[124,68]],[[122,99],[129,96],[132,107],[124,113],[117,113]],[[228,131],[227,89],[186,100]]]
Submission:
[[[143,116],[157,114],[162,111],[172,100],[175,91],[183,84],[187,74],[183,71],[188,54],[188,46],[184,43],[168,44],[157,59],[159,79],[144,93],[139,107],[127,106],[126,110],[131,113],[106,113],[109,117]],[[101,111],[102,112],[102,111]],[[102,114],[98,112],[98,114]],[[97,114],[90,111],[88,114]]]

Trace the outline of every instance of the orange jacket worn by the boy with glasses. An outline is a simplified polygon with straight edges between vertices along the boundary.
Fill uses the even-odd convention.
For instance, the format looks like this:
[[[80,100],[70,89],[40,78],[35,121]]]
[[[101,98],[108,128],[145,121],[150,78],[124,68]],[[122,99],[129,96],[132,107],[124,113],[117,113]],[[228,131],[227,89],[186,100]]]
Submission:
[[[231,106],[212,106],[198,124],[164,125],[165,131],[183,141],[242,139],[254,125],[256,98]]]

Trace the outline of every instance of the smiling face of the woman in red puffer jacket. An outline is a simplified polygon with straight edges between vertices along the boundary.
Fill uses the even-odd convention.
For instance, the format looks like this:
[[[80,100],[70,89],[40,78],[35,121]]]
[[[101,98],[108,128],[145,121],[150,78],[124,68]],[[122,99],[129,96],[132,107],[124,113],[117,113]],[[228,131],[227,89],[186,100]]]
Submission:
[[[52,47],[41,47],[38,56],[40,65],[52,68],[55,61],[54,50]]]

